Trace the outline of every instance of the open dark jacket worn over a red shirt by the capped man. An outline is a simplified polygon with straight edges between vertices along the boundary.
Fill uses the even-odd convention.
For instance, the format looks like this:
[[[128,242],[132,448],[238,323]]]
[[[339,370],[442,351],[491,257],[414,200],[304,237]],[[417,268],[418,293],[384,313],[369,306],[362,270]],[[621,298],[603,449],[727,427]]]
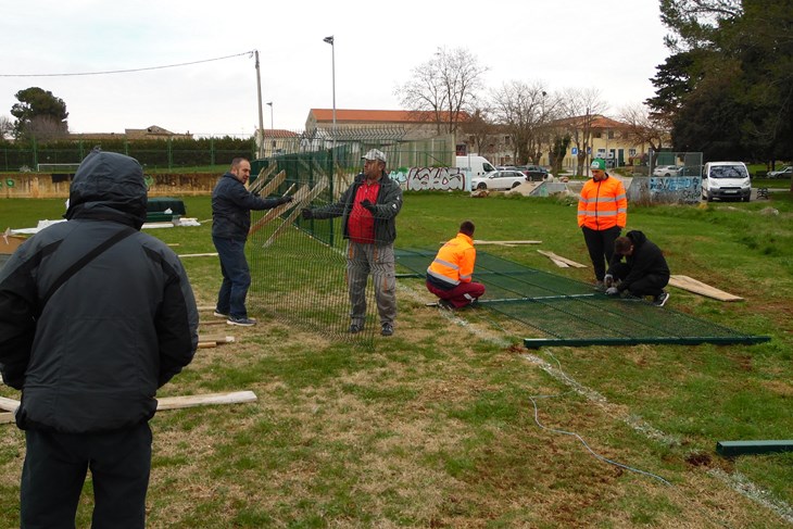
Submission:
[[[314,218],[343,217],[344,239],[349,239],[350,230],[347,222],[352,211],[355,193],[365,179],[366,175],[358,174],[336,203],[312,210]],[[375,211],[373,212],[375,217],[375,240],[377,242],[390,244],[396,240],[396,215],[400,210],[402,210],[402,189],[383,172],[382,177],[380,177],[380,190],[377,193],[377,201],[375,201]]]

